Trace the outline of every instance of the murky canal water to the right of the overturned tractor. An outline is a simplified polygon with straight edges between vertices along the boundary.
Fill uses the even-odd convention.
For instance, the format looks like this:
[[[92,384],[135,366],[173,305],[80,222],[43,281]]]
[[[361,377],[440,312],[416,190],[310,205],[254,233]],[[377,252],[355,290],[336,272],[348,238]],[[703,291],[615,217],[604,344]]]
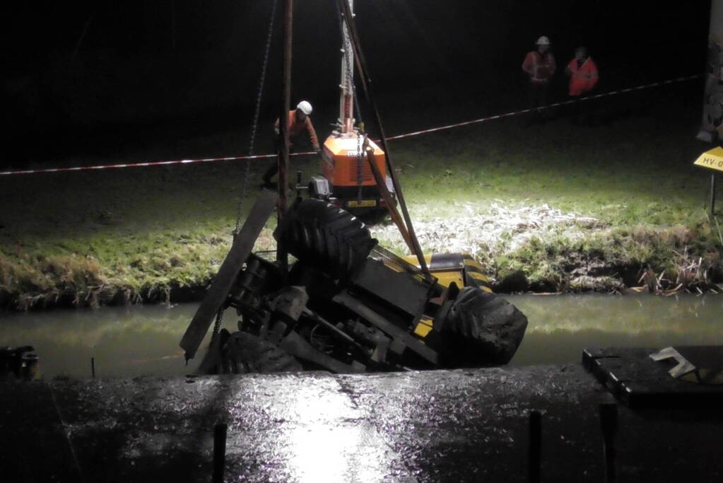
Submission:
[[[723,296],[505,296],[528,318],[510,365],[580,362],[583,349],[723,344]]]

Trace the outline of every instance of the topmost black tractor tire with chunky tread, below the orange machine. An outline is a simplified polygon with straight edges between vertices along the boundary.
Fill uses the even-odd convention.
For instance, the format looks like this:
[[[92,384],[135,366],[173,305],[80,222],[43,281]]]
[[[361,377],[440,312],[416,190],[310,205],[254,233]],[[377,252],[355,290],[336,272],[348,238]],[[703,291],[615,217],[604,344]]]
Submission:
[[[351,277],[377,244],[359,218],[314,199],[287,210],[274,238],[291,255],[333,278]]]

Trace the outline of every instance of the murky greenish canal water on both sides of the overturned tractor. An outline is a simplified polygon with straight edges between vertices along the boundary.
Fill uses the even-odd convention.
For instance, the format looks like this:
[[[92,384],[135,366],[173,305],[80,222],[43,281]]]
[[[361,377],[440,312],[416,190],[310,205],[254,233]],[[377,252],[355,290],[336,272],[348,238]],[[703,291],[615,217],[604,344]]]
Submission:
[[[723,344],[723,296],[505,298],[529,319],[513,365],[574,363],[586,347]],[[0,346],[34,346],[43,377],[90,377],[91,358],[96,377],[185,375],[195,364],[184,364],[178,343],[196,307],[0,313]],[[232,329],[231,311],[225,320]]]

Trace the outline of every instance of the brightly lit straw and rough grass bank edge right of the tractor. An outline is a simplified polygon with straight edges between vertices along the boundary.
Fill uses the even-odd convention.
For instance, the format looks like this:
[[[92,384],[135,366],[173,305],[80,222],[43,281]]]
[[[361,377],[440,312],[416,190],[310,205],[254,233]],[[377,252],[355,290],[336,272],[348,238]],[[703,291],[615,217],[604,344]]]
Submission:
[[[723,289],[723,239],[716,239],[720,233],[710,223],[620,228],[548,205],[457,208],[463,216],[415,223],[422,249],[473,255],[498,292]],[[382,244],[403,250],[395,226],[373,227],[372,233]]]

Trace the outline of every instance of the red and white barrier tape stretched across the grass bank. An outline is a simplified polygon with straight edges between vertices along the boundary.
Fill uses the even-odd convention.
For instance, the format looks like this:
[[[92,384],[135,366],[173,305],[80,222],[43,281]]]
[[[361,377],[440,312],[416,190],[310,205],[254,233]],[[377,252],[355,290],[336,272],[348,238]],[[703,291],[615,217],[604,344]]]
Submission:
[[[609,93],[602,93],[596,95],[588,95],[583,98],[573,99],[565,102],[558,102],[549,104],[548,106],[540,106],[536,109],[521,109],[520,111],[511,111],[505,114],[495,114],[495,116],[482,117],[480,119],[473,119],[472,121],[458,122],[457,124],[448,124],[447,126],[433,127],[432,129],[424,129],[423,131],[408,132],[406,134],[398,134],[397,136],[388,137],[387,140],[399,140],[405,137],[419,136],[420,134],[429,134],[430,132],[444,131],[445,129],[453,129],[455,127],[469,126],[470,124],[479,124],[481,122],[493,121],[495,119],[502,119],[505,117],[518,116],[520,114],[526,114],[533,110],[549,109],[559,106],[566,106],[568,104],[589,101],[591,99],[604,98],[609,95],[630,93],[635,90],[649,89],[650,87],[658,87],[661,85],[673,84],[675,82],[683,82],[685,80],[693,80],[701,77],[698,75],[689,75],[687,77],[677,77],[676,79],[664,80],[661,82],[653,82],[652,84],[638,85],[638,87],[628,87],[627,89],[612,90]],[[291,153],[292,156],[304,156],[315,154],[314,151],[305,153]],[[202,158],[202,159],[179,159],[175,161],[149,161],[147,163],[121,163],[121,164],[104,164],[100,166],[74,166],[72,168],[46,168],[46,169],[23,169],[19,171],[0,171],[0,176],[7,176],[10,174],[40,174],[40,173],[60,173],[62,171],[88,171],[92,169],[112,169],[112,168],[145,168],[147,166],[169,166],[171,164],[192,164],[192,163],[213,163],[216,161],[240,161],[244,159],[262,159],[262,158],[275,158],[275,154],[259,154],[250,156],[227,156],[224,158]]]

